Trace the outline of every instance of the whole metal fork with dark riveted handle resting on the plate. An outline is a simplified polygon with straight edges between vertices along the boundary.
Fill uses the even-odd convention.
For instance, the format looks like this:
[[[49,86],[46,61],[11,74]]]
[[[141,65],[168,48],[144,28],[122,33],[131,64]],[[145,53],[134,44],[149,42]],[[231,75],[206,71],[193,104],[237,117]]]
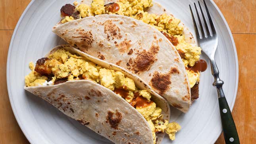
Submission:
[[[198,1],[198,5],[199,5],[200,11],[202,13],[203,24],[206,27],[206,31],[204,31],[202,21],[200,19],[198,10],[196,8],[196,4],[194,3],[200,30],[202,32],[201,37],[199,34],[200,31],[198,30],[197,25],[196,25],[196,20],[195,20],[194,14],[192,12],[191,5],[189,5],[189,8],[191,10],[194,28],[196,30],[196,39],[199,43],[199,46],[202,48],[202,51],[206,54],[206,56],[209,58],[210,63],[211,63],[212,75],[214,76],[214,83],[212,85],[216,86],[217,92],[218,92],[219,111],[220,111],[220,115],[221,115],[221,123],[222,123],[222,129],[223,129],[223,134],[224,134],[224,138],[225,138],[225,143],[226,144],[240,144],[239,137],[237,134],[237,129],[235,126],[235,122],[233,120],[231,111],[229,109],[229,105],[227,104],[227,100],[226,100],[224,92],[222,90],[222,85],[224,84],[224,82],[221,79],[219,79],[219,70],[218,70],[216,62],[214,60],[214,55],[216,52],[216,48],[218,46],[218,36],[217,36],[216,30],[215,30],[214,24],[212,22],[212,18],[210,16],[209,10],[206,6],[205,0],[204,0],[204,6],[206,9],[206,13],[208,15],[210,27],[212,29],[212,34],[210,34],[210,29],[206,23],[206,17],[204,16],[204,13],[202,11],[202,7],[201,7],[199,1]],[[205,35],[205,33],[207,35]]]

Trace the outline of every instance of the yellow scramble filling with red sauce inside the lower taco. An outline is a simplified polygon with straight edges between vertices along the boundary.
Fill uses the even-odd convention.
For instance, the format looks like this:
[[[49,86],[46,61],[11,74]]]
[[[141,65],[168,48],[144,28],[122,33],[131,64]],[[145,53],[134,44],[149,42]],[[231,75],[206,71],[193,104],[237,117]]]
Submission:
[[[29,68],[32,71],[25,76],[26,86],[55,85],[87,79],[114,91],[146,119],[152,130],[154,144],[156,132],[166,132],[174,140],[175,133],[181,129],[179,124],[163,119],[162,109],[151,100],[151,94],[137,88],[133,79],[125,77],[120,71],[102,68],[64,49],[58,49],[48,57],[37,60],[35,67],[30,62]]]

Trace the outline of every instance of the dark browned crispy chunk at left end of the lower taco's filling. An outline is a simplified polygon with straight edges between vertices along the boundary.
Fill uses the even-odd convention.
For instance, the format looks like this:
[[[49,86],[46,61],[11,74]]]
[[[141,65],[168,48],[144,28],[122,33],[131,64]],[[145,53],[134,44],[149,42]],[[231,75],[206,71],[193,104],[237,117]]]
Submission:
[[[40,58],[37,60],[35,71],[45,76],[53,76],[52,70],[49,68],[50,58]]]

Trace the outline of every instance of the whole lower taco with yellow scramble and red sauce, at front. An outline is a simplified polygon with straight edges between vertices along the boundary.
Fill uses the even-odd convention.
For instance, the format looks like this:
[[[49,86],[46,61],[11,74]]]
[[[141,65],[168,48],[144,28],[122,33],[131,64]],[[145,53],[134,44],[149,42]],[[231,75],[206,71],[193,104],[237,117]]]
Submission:
[[[167,101],[129,71],[69,45],[31,62],[25,90],[114,143],[155,144],[181,129]]]

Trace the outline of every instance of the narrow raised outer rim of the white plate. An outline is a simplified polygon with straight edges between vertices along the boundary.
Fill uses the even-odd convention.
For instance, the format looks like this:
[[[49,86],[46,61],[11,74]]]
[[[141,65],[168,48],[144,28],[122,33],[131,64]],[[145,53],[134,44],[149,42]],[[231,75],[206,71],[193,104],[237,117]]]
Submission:
[[[7,83],[7,89],[8,89],[8,97],[9,97],[9,100],[10,100],[10,104],[11,104],[11,107],[12,107],[12,111],[13,111],[13,114],[15,116],[15,119],[21,129],[21,131],[23,132],[23,134],[26,136],[27,140],[31,143],[31,144],[34,144],[35,142],[33,141],[33,139],[31,138],[30,134],[27,133],[27,131],[25,130],[25,127],[22,125],[19,117],[17,116],[17,111],[15,109],[15,106],[13,104],[13,100],[12,100],[12,96],[10,96],[10,94],[12,93],[11,92],[11,88],[10,88],[10,83],[9,83],[9,62],[10,62],[10,55],[11,55],[11,51],[12,51],[12,44],[13,44],[13,40],[14,40],[14,36],[16,35],[16,32],[17,32],[17,29],[19,29],[19,25],[24,17],[24,15],[27,13],[27,11],[29,10],[29,8],[31,7],[31,5],[35,2],[35,0],[31,0],[31,2],[28,4],[28,6],[25,8],[24,12],[22,13],[21,17],[19,18],[19,21],[17,22],[16,26],[15,26],[15,29],[13,31],[13,34],[12,34],[12,39],[10,41],[10,45],[9,45],[9,48],[8,48],[8,57],[7,57],[7,63],[6,63],[6,83]],[[235,101],[236,101],[236,98],[237,98],[237,89],[238,89],[238,83],[239,83],[239,63],[238,63],[238,56],[237,56],[237,48],[235,46],[235,41],[234,41],[234,38],[233,38],[233,35],[231,33],[231,30],[229,28],[229,25],[225,19],[225,17],[223,16],[223,13],[219,10],[218,6],[216,5],[216,3],[214,2],[214,0],[210,0],[210,2],[213,4],[214,8],[217,10],[219,16],[221,17],[221,19],[223,20],[224,24],[225,24],[225,27],[228,31],[228,35],[229,35],[229,38],[231,40],[231,43],[232,43],[232,47],[233,47],[233,50],[234,50],[234,56],[235,56],[235,72],[236,72],[236,83],[235,83],[235,92],[234,92],[234,98],[233,98],[233,101],[231,103],[231,106],[230,106],[230,109],[231,111],[233,110],[233,107],[235,105]],[[222,131],[221,131],[222,132]],[[214,142],[216,142],[216,140],[219,138],[221,132],[219,132],[218,135],[216,135],[216,137],[214,138]]]

